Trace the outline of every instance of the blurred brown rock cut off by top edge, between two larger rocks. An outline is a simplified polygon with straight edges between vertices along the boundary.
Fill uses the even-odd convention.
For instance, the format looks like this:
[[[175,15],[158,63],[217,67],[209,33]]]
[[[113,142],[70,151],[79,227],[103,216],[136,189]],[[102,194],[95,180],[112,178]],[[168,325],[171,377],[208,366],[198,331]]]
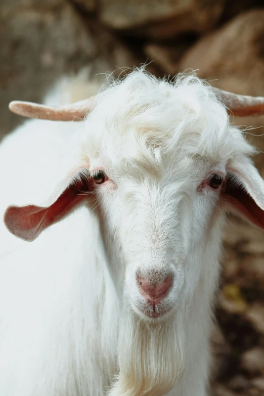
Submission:
[[[208,31],[221,17],[224,4],[224,0],[102,0],[99,16],[114,29],[137,29],[142,36],[168,38],[186,31]]]

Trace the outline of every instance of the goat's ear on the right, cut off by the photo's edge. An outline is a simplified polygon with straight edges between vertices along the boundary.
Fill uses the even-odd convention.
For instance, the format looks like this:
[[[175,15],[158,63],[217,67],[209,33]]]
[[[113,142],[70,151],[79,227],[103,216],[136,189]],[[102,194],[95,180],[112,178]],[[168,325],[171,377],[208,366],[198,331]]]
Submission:
[[[264,180],[248,161],[227,169],[224,198],[227,210],[264,229]]]

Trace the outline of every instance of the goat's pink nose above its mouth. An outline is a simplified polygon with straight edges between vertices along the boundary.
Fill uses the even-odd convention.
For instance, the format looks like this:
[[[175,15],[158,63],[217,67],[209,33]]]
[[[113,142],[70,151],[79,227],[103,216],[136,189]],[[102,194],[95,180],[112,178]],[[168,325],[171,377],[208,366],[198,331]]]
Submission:
[[[149,282],[143,277],[139,277],[138,282],[141,294],[149,301],[153,300],[155,303],[160,302],[168,294],[171,278],[171,276],[167,276],[162,282],[157,284]]]

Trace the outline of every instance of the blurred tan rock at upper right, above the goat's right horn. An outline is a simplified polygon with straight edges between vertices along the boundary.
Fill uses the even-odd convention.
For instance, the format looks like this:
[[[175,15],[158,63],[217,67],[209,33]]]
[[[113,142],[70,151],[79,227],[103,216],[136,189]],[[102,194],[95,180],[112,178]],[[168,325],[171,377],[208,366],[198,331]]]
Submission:
[[[180,68],[198,69],[197,75],[215,86],[259,95],[264,92],[263,37],[264,10],[248,11],[201,38],[187,51]]]

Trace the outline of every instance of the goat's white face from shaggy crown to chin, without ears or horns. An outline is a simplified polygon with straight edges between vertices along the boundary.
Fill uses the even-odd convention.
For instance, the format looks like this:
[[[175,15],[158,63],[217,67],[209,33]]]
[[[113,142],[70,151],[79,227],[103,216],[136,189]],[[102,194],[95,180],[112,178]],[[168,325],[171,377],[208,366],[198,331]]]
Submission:
[[[153,85],[136,73],[106,91],[85,120],[82,149],[108,262],[120,294],[145,320],[166,319],[190,301],[205,241],[214,243],[219,228],[230,130],[206,90],[188,81]]]

